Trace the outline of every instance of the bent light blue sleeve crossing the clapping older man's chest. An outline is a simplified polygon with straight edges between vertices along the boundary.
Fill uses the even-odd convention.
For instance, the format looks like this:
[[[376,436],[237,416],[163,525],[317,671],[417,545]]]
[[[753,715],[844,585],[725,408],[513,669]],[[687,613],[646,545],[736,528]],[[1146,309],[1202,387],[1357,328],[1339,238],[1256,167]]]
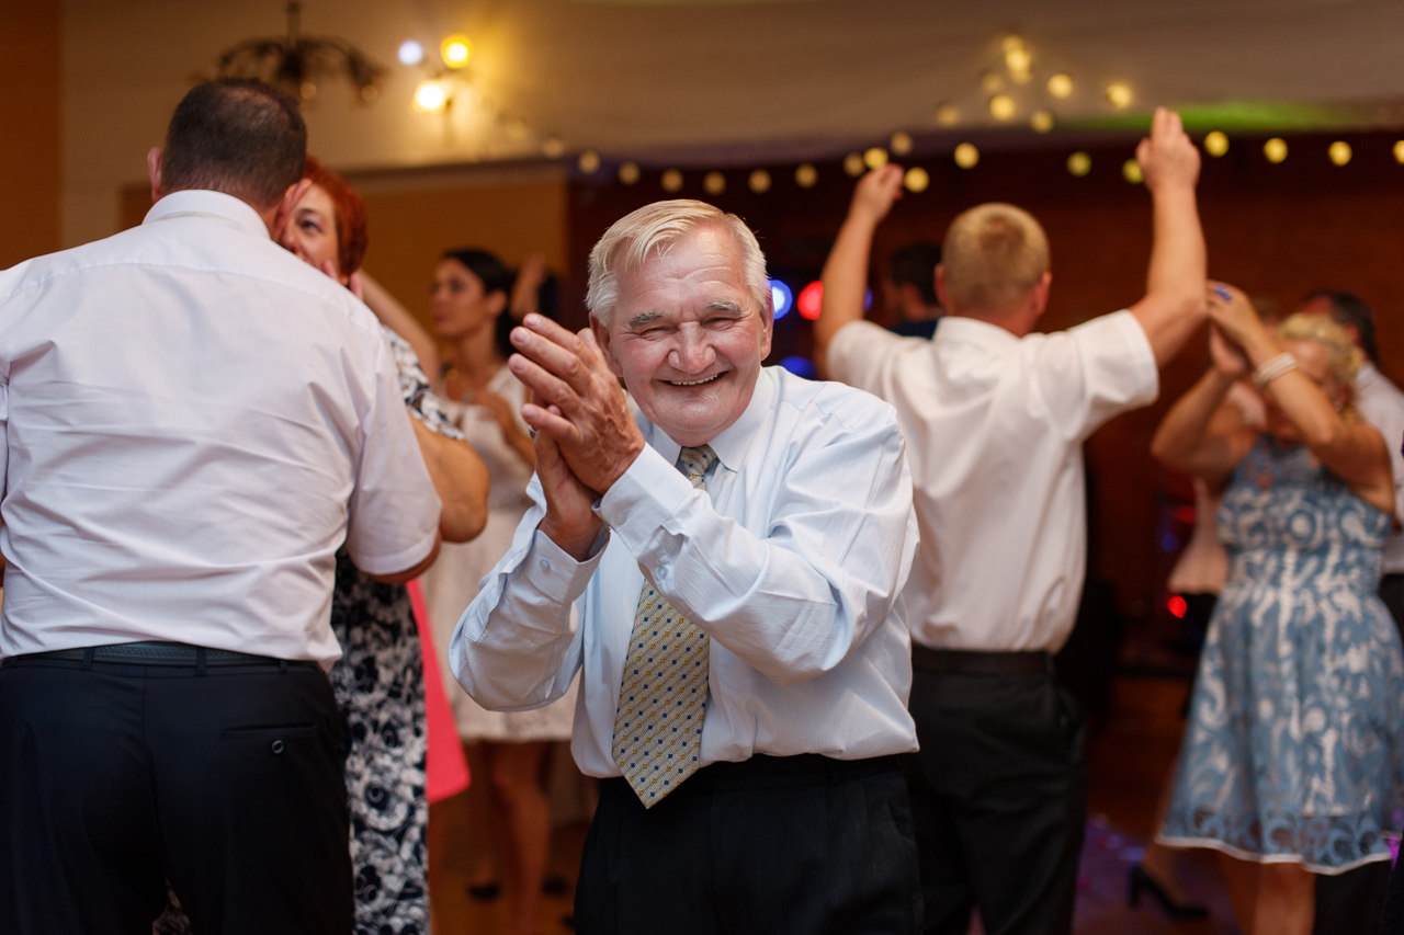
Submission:
[[[915,555],[901,432],[892,407],[863,409],[885,417],[795,445],[774,465],[783,483],[765,535],[717,512],[651,448],[598,507],[675,608],[781,687],[862,646],[887,621]]]

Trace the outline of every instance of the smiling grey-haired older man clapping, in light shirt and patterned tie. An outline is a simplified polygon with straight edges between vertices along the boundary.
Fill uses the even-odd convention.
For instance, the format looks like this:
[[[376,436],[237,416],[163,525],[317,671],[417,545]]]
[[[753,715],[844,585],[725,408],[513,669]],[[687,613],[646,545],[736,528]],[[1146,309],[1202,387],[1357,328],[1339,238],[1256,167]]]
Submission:
[[[498,710],[581,672],[587,935],[917,931],[901,432],[761,368],[769,295],[739,218],[658,202],[591,253],[592,331],[512,333],[536,505],[449,656]]]

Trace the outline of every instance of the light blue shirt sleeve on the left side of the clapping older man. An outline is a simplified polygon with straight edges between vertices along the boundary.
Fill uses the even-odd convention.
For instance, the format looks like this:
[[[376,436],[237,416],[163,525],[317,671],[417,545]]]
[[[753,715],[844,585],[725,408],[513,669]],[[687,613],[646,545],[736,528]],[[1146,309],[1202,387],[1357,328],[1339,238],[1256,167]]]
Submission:
[[[453,629],[449,667],[463,691],[490,710],[529,710],[570,688],[580,668],[574,601],[585,592],[609,539],[601,531],[591,555],[576,562],[536,526],[546,515],[541,482],[528,493],[512,548],[483,578]]]

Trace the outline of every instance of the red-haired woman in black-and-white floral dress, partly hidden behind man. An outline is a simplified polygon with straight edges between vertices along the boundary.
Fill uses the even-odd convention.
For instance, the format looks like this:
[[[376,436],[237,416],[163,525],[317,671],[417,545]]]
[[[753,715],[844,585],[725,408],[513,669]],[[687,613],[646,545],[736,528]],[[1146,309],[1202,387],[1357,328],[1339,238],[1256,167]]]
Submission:
[[[303,177],[313,184],[293,208],[281,243],[362,295],[362,285],[369,284],[358,274],[366,247],[365,204],[312,156]],[[465,542],[486,521],[487,472],[444,414],[414,350],[390,321],[431,350],[432,341],[417,324],[406,326],[404,319],[413,323],[413,317],[383,289],[362,298],[382,321],[420,452],[444,503],[439,532],[445,543]],[[343,717],[355,935],[425,935],[425,682],[439,682],[437,654],[431,644],[421,646],[409,587],[372,580],[344,549],[337,553],[331,629],[341,644],[341,658],[329,678]],[[441,684],[437,696],[442,703]],[[445,789],[446,795],[466,786],[466,771],[461,774],[458,788]],[[156,925],[161,935],[188,931],[177,907]]]

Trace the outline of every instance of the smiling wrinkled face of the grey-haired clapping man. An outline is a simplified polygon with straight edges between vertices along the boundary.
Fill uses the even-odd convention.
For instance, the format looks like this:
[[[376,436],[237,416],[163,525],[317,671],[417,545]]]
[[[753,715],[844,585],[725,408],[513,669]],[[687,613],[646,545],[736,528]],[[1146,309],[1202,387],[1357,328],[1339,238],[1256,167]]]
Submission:
[[[741,417],[771,351],[771,309],[757,307],[741,251],[715,223],[621,271],[609,327],[594,316],[591,327],[609,369],[680,445],[705,445]]]

